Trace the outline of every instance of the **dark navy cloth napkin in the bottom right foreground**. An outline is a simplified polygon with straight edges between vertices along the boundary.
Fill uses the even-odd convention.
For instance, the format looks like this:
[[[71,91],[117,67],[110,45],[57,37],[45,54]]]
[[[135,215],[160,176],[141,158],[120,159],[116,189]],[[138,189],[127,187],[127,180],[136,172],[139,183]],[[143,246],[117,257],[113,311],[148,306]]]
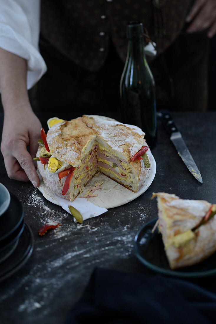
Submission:
[[[65,321],[72,323],[216,323],[216,294],[184,279],[96,268]]]

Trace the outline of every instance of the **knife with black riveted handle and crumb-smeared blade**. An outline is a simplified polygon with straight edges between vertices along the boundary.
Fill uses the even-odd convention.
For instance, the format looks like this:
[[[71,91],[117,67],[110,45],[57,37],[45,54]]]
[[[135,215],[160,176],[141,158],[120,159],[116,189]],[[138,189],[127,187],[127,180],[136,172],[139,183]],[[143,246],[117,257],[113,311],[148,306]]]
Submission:
[[[178,131],[177,127],[175,126],[175,123],[172,117],[170,116],[169,111],[160,110],[157,112],[157,117],[159,117],[162,120],[164,127],[170,135],[171,142],[174,144],[178,155],[180,155],[182,161],[185,163],[188,170],[199,182],[202,183],[202,177],[199,172],[199,169],[196,163],[194,162],[194,159],[190,154],[185,144],[185,141],[182,138],[182,134]]]

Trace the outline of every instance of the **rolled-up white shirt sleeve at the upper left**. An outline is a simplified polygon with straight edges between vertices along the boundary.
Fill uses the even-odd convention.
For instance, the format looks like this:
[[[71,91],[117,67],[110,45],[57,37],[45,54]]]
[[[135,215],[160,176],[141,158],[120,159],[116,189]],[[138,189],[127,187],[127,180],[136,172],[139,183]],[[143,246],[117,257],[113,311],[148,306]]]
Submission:
[[[0,0],[0,47],[28,62],[27,88],[46,72],[39,52],[40,0]]]

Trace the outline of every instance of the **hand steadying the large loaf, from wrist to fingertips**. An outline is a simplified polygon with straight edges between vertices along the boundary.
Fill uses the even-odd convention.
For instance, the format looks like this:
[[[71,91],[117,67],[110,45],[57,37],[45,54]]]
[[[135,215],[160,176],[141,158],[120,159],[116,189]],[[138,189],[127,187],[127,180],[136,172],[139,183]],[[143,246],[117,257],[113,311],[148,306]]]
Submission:
[[[5,112],[1,151],[7,175],[19,181],[30,180],[34,187],[40,184],[32,158],[36,156],[41,127],[31,108],[23,110],[20,107],[13,114]]]

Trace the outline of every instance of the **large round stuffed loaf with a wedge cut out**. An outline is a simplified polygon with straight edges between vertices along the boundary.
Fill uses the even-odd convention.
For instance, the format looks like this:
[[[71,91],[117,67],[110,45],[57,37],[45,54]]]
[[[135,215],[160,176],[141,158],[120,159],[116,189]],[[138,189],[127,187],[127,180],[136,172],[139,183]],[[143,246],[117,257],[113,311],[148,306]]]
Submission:
[[[73,201],[84,186],[101,172],[131,191],[149,178],[152,155],[145,133],[114,119],[84,115],[42,129],[38,170],[46,187]]]

